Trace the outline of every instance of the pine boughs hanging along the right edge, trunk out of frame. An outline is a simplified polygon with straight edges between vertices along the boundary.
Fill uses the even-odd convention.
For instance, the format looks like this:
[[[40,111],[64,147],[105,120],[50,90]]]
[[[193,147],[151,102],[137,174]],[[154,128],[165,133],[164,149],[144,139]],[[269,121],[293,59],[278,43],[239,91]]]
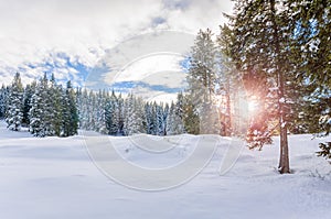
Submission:
[[[300,131],[330,133],[331,127],[331,2],[291,0],[295,11],[296,34],[292,48],[300,63],[297,78],[303,80],[305,101],[300,108]],[[327,144],[320,143],[320,146]],[[325,151],[324,151],[325,152]],[[330,151],[329,151],[330,154]]]

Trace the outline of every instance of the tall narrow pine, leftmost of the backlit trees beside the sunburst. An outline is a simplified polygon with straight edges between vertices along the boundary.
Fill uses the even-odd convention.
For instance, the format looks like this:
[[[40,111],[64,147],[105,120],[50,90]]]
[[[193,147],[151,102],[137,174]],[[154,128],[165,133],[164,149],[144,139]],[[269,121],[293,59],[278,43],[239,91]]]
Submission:
[[[200,31],[192,47],[191,66],[188,74],[188,98],[192,103],[192,111],[199,112],[200,132],[201,133],[218,133],[218,122],[210,123],[210,121],[218,121],[216,113],[210,113],[214,110],[215,84],[216,84],[216,47],[212,40],[211,30]],[[195,109],[194,109],[195,108]],[[186,120],[189,122],[189,120]],[[186,124],[192,127],[196,123]],[[214,124],[216,127],[214,127]],[[188,129],[190,133],[191,129]],[[194,128],[197,130],[197,128]]]

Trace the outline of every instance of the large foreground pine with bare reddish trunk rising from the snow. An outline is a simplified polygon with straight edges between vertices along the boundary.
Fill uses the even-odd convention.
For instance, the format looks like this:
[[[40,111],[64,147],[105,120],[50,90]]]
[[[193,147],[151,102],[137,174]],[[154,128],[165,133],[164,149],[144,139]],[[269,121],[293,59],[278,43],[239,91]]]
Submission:
[[[229,55],[241,73],[265,78],[267,87],[277,87],[277,118],[280,133],[279,172],[289,173],[288,155],[288,111],[289,92],[286,76],[295,74],[291,62],[291,44],[295,26],[288,1],[235,1],[235,13],[231,18],[233,33]],[[249,78],[249,77],[248,77]],[[268,118],[267,118],[268,119]]]

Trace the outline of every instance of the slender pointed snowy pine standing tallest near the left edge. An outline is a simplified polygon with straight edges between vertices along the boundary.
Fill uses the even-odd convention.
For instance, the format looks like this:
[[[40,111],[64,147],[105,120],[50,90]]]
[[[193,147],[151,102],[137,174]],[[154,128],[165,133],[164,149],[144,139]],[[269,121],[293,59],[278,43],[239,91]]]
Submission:
[[[7,128],[13,131],[19,131],[23,120],[23,86],[21,83],[21,76],[15,74],[11,84],[8,98],[7,109]]]

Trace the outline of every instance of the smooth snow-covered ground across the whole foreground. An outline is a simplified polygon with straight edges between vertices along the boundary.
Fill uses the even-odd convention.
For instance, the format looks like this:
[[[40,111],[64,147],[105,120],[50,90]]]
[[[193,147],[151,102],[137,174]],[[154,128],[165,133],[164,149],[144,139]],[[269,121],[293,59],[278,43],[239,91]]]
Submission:
[[[82,135],[38,139],[26,131],[8,131],[0,121],[0,218],[327,219],[331,166],[314,155],[318,142],[327,139],[310,139],[289,138],[293,174],[277,173],[279,139],[275,138],[275,144],[261,152],[243,149],[223,176],[217,168],[227,146],[220,144],[211,163],[189,183],[163,191],[140,191],[106,177],[89,158]],[[127,160],[162,167],[190,156],[196,136],[185,135],[184,145],[157,156],[126,145],[126,140],[116,139]]]

